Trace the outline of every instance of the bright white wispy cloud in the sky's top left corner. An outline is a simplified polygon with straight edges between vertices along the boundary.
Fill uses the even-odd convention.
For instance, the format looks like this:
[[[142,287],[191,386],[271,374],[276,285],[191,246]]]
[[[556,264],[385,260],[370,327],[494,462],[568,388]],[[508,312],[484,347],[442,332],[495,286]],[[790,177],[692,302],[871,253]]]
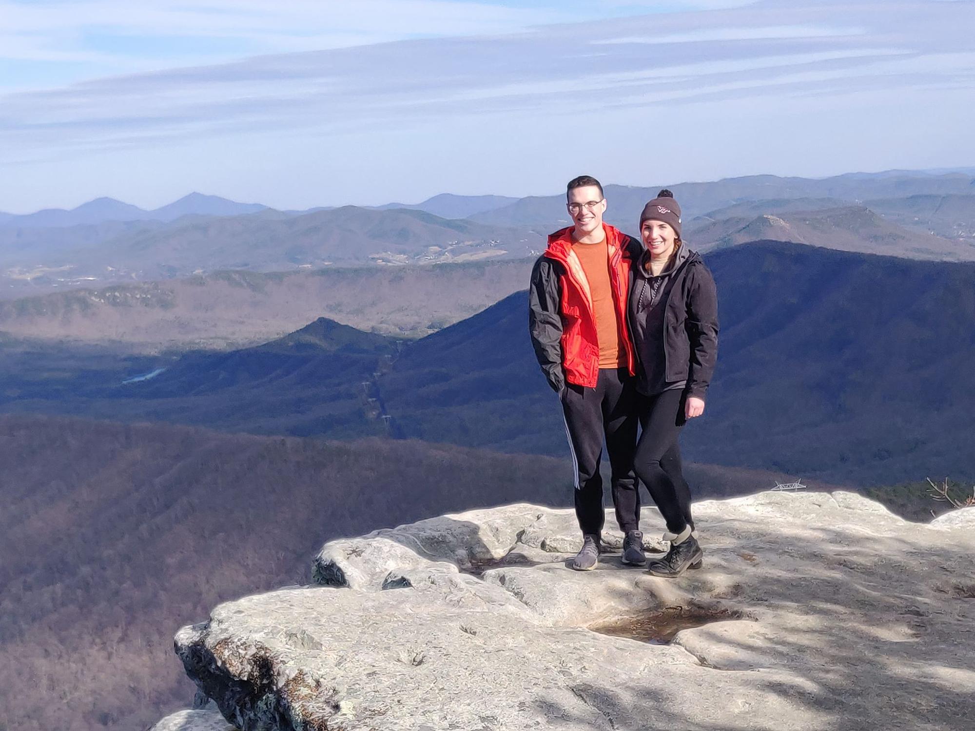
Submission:
[[[43,62],[77,80],[411,37],[512,32],[571,18],[557,7],[489,1],[0,0],[0,61]],[[84,65],[58,65],[77,62]],[[0,78],[3,86],[23,88],[15,77]]]

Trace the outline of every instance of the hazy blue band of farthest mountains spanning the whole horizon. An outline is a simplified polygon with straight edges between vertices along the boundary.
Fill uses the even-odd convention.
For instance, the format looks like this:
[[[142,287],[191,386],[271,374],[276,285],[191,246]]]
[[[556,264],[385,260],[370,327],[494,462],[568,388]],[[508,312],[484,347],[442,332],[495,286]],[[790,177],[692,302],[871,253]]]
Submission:
[[[668,187],[681,202],[686,240],[700,248],[777,238],[914,258],[975,258],[975,178],[964,173],[750,175]],[[606,222],[637,233],[643,205],[658,190],[607,184]],[[864,207],[870,212],[853,212]],[[826,213],[843,209],[848,211]],[[544,248],[550,232],[569,223],[562,193],[521,199],[441,194],[406,206],[306,212],[191,194],[155,212],[138,211],[99,199],[75,212],[32,214],[26,217],[29,225],[23,216],[0,215],[0,299],[219,269],[529,256]],[[96,220],[104,215],[139,219]],[[84,222],[68,225],[71,221]]]

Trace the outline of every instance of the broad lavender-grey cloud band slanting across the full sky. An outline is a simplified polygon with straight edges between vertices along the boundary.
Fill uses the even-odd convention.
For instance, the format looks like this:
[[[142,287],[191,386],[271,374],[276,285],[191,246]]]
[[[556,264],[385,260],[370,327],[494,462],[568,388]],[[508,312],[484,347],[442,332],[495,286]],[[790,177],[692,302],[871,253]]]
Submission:
[[[255,14],[266,11],[256,0],[250,5]],[[477,7],[494,18],[496,9]],[[876,5],[842,12],[833,5],[765,6],[651,16],[108,78],[3,97],[0,137],[11,142],[6,150],[29,159],[59,148],[227,129],[328,130],[356,120],[397,124],[413,115],[446,120],[541,108],[559,114],[560,97],[583,92],[599,93],[604,103],[639,104],[729,89],[801,92],[820,81],[865,75],[881,77],[892,90],[917,74],[932,82],[975,82],[971,40],[951,30],[975,26],[971,3],[884,8],[880,14]],[[219,10],[215,2],[209,12]],[[460,24],[442,20],[445,27]],[[693,30],[686,30],[688,20]]]

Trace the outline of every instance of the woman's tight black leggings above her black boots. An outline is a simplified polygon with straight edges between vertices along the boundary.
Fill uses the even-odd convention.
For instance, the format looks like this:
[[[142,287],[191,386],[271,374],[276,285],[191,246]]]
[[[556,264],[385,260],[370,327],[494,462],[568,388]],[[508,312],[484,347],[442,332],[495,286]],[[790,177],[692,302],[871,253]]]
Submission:
[[[690,489],[681,469],[681,435],[686,419],[683,414],[683,390],[664,391],[640,398],[640,426],[643,433],[637,443],[634,469],[646,485],[667,522],[667,530],[681,533],[694,526],[690,516]]]

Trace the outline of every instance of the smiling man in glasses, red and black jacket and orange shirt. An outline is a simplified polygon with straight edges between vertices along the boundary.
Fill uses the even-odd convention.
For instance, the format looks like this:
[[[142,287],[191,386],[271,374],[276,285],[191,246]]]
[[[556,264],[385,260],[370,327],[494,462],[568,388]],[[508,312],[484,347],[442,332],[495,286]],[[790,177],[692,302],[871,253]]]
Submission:
[[[616,520],[626,538],[623,562],[645,562],[640,496],[633,471],[637,442],[636,361],[626,323],[630,267],[640,243],[603,222],[603,186],[589,175],[569,181],[571,226],[549,237],[535,262],[528,328],[538,364],[559,394],[575,469],[575,515],[582,550],[572,568],[596,567],[604,523],[603,441]]]

